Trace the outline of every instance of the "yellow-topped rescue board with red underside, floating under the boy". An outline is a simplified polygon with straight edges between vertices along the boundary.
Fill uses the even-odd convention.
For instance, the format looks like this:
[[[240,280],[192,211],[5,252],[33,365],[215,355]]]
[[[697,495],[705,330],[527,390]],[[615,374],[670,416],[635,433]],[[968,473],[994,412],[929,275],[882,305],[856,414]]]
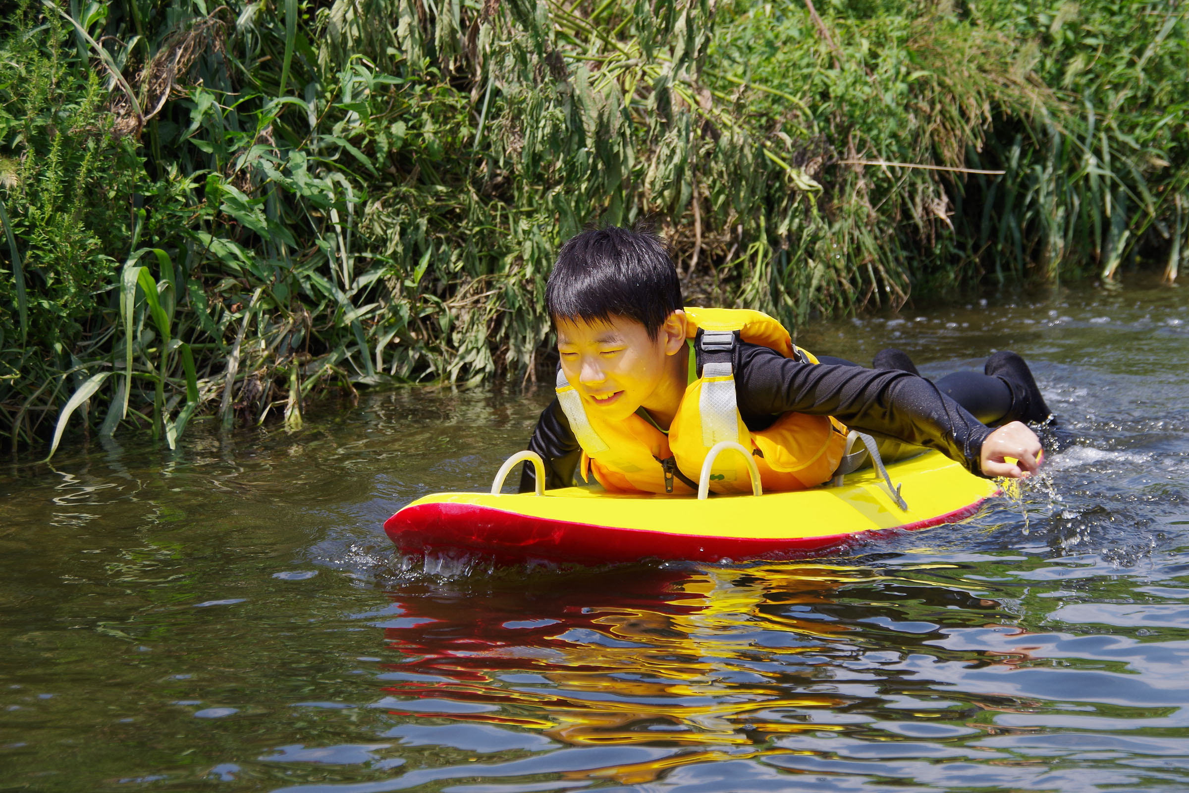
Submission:
[[[804,556],[869,531],[961,520],[998,492],[937,452],[889,464],[907,510],[874,470],[838,487],[762,496],[623,495],[585,487],[534,493],[434,493],[384,524],[405,550],[458,547],[499,556],[612,561]]]

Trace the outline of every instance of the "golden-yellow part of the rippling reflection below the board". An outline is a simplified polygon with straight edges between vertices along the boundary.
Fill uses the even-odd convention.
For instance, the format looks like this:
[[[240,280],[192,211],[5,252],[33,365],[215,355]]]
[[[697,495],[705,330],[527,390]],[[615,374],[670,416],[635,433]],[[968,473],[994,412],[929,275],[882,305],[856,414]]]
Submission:
[[[395,646],[421,656],[420,672],[454,681],[401,684],[391,691],[499,705],[498,713],[465,719],[541,725],[571,744],[731,745],[750,744],[762,734],[839,730],[843,719],[833,723],[831,709],[847,700],[805,692],[814,682],[814,666],[797,656],[819,653],[854,628],[831,621],[820,608],[813,611],[817,618],[789,616],[787,609],[828,605],[838,587],[875,578],[869,569],[825,565],[704,567],[663,581],[654,598],[629,604],[611,593],[605,605],[559,604],[543,616],[560,624],[531,636],[455,632],[429,643],[428,635],[442,629],[427,624],[421,643],[405,641],[402,630]],[[599,603],[583,594],[586,603]],[[642,599],[649,608],[641,606]],[[534,681],[521,680],[523,672]],[[624,772],[624,780],[636,773]]]

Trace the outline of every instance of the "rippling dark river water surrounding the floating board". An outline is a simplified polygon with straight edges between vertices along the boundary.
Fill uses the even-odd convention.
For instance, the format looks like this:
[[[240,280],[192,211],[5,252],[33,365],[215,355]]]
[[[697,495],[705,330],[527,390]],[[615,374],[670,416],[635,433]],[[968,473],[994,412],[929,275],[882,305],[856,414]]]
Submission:
[[[0,791],[1189,789],[1189,289],[799,342],[1025,354],[1045,474],[818,561],[490,569],[380,524],[489,486],[545,391],[67,445],[0,480]]]

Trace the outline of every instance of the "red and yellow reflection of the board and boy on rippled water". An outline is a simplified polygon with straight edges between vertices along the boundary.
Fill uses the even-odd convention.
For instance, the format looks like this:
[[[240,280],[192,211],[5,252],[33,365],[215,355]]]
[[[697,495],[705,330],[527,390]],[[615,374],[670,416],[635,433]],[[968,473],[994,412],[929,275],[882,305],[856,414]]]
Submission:
[[[448,700],[440,710],[395,705],[390,712],[539,728],[571,743],[711,737],[749,743],[744,726],[807,729],[756,711],[831,707],[841,700],[789,697],[776,680],[729,678],[740,659],[800,653],[849,630],[761,613],[774,590],[781,603],[820,603],[824,591],[854,577],[824,568],[760,573],[624,568],[484,592],[430,585],[390,592],[404,609],[403,627],[385,628],[385,638],[405,657],[385,665],[384,692]],[[757,630],[806,641],[756,648]],[[473,712],[477,705],[490,709]],[[812,728],[831,729],[822,722]]]

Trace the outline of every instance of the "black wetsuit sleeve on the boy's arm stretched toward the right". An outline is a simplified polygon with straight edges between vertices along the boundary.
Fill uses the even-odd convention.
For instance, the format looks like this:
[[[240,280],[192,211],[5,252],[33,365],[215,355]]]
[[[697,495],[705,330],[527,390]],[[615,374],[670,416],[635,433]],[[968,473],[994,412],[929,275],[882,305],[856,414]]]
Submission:
[[[937,449],[982,476],[990,429],[923,377],[899,370],[809,364],[741,342],[735,394],[751,420],[788,410],[833,416],[851,429]]]

